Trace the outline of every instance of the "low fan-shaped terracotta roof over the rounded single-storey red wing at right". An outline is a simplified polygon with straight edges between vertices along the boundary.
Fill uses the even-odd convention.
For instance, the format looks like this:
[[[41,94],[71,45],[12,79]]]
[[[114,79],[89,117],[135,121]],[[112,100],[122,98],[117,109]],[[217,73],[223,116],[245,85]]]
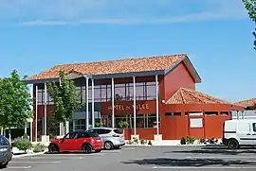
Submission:
[[[216,97],[212,97],[208,94],[202,94],[194,90],[180,88],[170,99],[166,101],[166,104],[231,104],[231,103]]]

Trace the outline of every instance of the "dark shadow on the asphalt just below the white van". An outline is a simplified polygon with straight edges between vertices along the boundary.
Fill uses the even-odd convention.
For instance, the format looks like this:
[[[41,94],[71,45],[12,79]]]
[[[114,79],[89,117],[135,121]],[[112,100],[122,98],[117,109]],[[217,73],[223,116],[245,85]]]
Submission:
[[[164,153],[195,153],[195,154],[223,154],[223,155],[239,155],[239,154],[256,154],[255,147],[241,147],[239,149],[229,149],[226,146],[205,146],[201,149],[192,150],[174,150],[166,151]]]

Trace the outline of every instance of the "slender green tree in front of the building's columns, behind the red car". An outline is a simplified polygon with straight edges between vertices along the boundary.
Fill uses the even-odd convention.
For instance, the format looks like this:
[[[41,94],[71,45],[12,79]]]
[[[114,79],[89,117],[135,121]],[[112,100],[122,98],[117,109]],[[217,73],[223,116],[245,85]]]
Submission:
[[[55,103],[54,117],[56,121],[65,123],[72,118],[74,112],[82,108],[82,95],[76,91],[72,80],[68,80],[64,71],[60,71],[60,83],[50,82],[47,84],[48,94]]]

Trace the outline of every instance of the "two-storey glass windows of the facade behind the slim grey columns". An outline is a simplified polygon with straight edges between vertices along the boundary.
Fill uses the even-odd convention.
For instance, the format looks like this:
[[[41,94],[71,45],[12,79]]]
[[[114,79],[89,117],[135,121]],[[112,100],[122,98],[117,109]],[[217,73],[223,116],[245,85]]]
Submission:
[[[90,80],[89,80],[90,82]],[[76,91],[81,94],[81,101],[86,101],[86,87],[85,80],[82,84],[76,83]],[[155,100],[155,81],[152,82],[137,82],[136,83],[136,100]],[[121,83],[115,84],[115,101],[125,102],[134,100],[134,87],[133,83]],[[45,105],[45,89],[39,89],[37,92],[38,105]],[[89,124],[92,124],[91,102],[92,102],[92,86],[88,87],[88,101],[89,101]],[[112,127],[112,115],[101,114],[101,103],[112,101],[112,85],[101,84],[94,86],[94,102],[95,102],[95,123],[101,122],[104,127]],[[46,94],[46,105],[54,105],[53,99]],[[69,130],[84,130],[86,128],[85,120],[85,107],[83,106],[78,111],[77,116],[74,117],[69,123]],[[74,114],[76,115],[76,114]],[[129,124],[129,128],[134,128],[134,116],[132,113],[121,114],[115,116],[115,124],[118,127],[120,121],[126,121]],[[159,124],[160,126],[160,124]],[[47,118],[47,127],[51,127]],[[58,127],[58,128],[57,128]],[[156,128],[156,114],[144,113],[137,114],[137,128]],[[54,127],[54,130],[58,129],[59,125]],[[38,135],[43,135],[44,132],[44,117],[38,117]],[[56,132],[55,132],[56,133]],[[50,128],[47,128],[47,134],[55,134]]]

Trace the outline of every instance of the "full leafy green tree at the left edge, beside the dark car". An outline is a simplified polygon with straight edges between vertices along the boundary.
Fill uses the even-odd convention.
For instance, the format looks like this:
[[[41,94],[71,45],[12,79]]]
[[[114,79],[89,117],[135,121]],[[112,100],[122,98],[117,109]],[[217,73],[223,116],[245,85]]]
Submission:
[[[0,79],[0,125],[3,128],[24,128],[32,117],[32,99],[27,85],[16,70]]]

